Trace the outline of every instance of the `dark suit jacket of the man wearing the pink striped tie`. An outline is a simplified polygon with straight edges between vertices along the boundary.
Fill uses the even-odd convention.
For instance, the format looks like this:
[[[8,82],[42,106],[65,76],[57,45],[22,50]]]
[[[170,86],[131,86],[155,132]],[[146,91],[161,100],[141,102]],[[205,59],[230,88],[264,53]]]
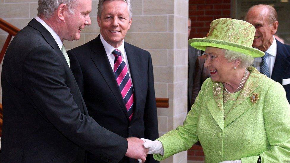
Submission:
[[[125,50],[135,95],[131,121],[100,35],[67,53],[90,116],[122,137],[155,140],[158,138],[158,124],[152,59],[148,51],[126,42]],[[101,162],[91,154],[88,154],[88,159]],[[147,157],[146,162],[149,160]],[[129,162],[129,158],[124,157],[121,162]],[[130,162],[136,161],[130,159]]]

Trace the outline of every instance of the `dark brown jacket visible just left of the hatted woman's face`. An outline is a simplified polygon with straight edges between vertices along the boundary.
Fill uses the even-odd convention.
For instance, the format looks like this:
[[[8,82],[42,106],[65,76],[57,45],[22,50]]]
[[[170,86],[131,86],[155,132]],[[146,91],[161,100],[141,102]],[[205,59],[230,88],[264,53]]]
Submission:
[[[192,104],[195,102],[195,99],[201,89],[202,83],[204,83],[204,80],[210,77],[209,69],[204,67],[205,57],[206,55],[203,55],[203,56],[197,57],[196,59],[192,96],[191,96]]]

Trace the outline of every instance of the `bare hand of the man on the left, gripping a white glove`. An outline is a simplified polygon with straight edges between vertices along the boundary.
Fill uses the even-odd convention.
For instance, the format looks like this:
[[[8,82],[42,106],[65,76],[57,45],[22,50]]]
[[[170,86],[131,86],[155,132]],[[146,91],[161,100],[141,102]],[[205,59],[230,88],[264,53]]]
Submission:
[[[142,162],[145,162],[148,149],[144,148],[144,141],[137,137],[128,137],[127,141],[128,149],[125,156],[132,159],[141,159]]]

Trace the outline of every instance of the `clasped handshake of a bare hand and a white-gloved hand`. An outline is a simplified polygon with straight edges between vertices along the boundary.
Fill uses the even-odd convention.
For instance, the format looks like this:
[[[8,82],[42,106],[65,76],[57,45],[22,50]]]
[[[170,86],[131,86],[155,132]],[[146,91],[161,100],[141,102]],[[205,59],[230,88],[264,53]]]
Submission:
[[[164,154],[163,145],[160,141],[137,137],[128,137],[128,149],[125,156],[145,162],[147,154]]]

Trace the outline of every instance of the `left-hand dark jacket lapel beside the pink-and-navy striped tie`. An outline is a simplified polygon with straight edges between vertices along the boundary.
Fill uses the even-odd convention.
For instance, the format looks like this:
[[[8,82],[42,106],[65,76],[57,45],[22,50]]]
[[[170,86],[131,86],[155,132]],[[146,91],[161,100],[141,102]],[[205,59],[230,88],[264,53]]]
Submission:
[[[127,109],[122,98],[122,95],[119,90],[119,86],[116,82],[116,78],[114,75],[113,70],[111,69],[111,64],[108,60],[108,56],[106,55],[105,48],[100,40],[100,35],[94,39],[92,45],[90,45],[91,50],[94,52],[91,55],[91,58],[96,65],[99,72],[102,74],[103,78],[105,79],[106,83],[110,87],[112,93],[116,97],[120,107],[122,108],[124,114],[126,115],[128,121],[129,116],[127,114]]]

